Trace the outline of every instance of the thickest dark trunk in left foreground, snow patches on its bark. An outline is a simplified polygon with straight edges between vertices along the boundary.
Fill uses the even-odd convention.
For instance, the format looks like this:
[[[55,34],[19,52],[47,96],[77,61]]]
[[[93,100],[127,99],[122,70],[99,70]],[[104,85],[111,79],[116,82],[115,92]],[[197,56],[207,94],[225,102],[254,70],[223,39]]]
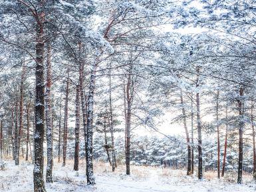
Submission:
[[[44,1],[41,1],[43,7]],[[37,12],[38,23],[36,39],[36,95],[35,95],[35,136],[34,136],[34,191],[45,192],[45,182],[43,179],[43,143],[45,136],[44,116],[45,116],[45,80],[44,80],[44,23],[45,13],[43,9]]]

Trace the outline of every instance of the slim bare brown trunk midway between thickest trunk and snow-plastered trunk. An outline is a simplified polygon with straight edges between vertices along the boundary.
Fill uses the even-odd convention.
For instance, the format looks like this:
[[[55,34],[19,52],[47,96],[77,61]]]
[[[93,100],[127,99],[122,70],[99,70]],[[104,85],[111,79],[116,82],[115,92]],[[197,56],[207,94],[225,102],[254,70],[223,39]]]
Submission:
[[[64,107],[64,128],[63,128],[63,166],[66,165],[66,142],[68,138],[69,68],[67,72],[68,72],[68,78],[66,80],[66,97],[65,97],[65,107]]]

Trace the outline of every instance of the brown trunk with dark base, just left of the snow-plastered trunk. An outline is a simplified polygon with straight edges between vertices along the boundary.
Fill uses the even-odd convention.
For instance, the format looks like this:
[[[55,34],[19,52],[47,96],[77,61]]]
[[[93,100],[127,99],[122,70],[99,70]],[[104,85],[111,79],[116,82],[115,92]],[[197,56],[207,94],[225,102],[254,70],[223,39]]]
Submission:
[[[80,132],[80,86],[76,86],[76,127],[74,130],[74,171],[78,171],[79,165],[79,132]]]

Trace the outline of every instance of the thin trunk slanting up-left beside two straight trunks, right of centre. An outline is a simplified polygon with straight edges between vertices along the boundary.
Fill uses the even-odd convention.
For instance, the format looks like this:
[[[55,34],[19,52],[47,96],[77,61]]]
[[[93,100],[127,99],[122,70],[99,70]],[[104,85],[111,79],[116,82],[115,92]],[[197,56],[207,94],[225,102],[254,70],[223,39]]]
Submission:
[[[188,134],[188,127],[187,127],[187,116],[184,106],[184,98],[183,98],[183,92],[180,88],[180,104],[182,105],[182,117],[183,117],[183,124],[184,129],[186,132],[186,140],[187,140],[187,147],[188,147],[188,167],[187,167],[187,175],[191,175],[191,147],[190,147],[190,135]]]

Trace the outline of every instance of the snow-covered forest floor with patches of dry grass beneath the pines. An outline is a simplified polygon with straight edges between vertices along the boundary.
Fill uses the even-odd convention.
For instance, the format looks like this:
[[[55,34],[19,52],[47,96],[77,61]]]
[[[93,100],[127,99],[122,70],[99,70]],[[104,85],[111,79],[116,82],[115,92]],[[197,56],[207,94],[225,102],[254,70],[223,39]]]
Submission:
[[[1,161],[1,160],[0,160]],[[33,192],[33,165],[21,160],[15,166],[14,161],[5,159],[5,168],[0,169],[0,191]],[[80,162],[80,170],[72,170],[72,161],[66,167],[55,162],[53,183],[47,183],[47,192],[221,192],[221,191],[256,191],[251,175],[244,175],[243,185],[235,183],[235,173],[229,173],[216,179],[216,173],[204,173],[204,179],[198,181],[194,176],[186,176],[184,170],[158,167],[132,166],[131,175],[124,174],[124,166],[119,166],[112,173],[110,165],[94,163],[96,185],[86,185],[84,162]]]

